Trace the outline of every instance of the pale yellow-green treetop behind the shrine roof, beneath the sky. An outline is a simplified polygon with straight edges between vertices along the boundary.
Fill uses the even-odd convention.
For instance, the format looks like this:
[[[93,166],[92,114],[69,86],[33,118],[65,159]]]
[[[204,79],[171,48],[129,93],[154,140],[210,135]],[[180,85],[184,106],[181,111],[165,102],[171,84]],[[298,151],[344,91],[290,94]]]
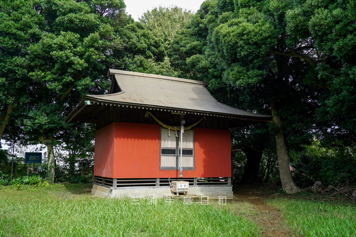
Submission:
[[[129,39],[127,41],[130,45],[129,51],[132,52],[126,61],[125,68],[136,72],[177,76],[179,70],[171,67],[172,61],[166,54],[173,36],[185,26],[192,16],[190,11],[177,6],[159,6],[145,12],[139,18],[140,22],[125,27],[135,33],[132,35],[132,33],[122,32]],[[148,48],[148,44],[154,48]]]

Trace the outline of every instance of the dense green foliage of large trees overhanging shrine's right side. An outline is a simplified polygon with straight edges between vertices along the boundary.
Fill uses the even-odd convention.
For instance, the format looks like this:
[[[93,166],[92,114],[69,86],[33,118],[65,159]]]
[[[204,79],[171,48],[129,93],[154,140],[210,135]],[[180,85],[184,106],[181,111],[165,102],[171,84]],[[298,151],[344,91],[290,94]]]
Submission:
[[[315,138],[355,141],[355,12],[353,1],[205,1],[169,55],[220,101],[276,106],[290,152]]]

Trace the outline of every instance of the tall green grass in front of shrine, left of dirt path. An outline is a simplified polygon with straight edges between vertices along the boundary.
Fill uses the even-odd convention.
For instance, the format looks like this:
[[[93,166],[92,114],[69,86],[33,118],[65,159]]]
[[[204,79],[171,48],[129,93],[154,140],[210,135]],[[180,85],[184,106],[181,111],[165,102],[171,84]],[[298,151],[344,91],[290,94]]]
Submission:
[[[41,191],[40,191],[41,192]],[[61,192],[0,191],[0,236],[258,236],[250,220],[212,205],[175,200],[68,198]],[[63,198],[66,196],[66,198]]]

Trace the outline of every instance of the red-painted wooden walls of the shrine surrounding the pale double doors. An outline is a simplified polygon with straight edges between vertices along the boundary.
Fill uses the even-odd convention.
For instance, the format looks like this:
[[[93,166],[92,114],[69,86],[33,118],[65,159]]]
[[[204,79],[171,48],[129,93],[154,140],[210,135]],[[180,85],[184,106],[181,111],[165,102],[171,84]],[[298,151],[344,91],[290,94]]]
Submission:
[[[95,154],[94,175],[108,178],[178,178],[177,170],[159,169],[159,137],[158,124],[115,122],[99,129],[95,133],[95,153],[100,151],[99,147],[107,150],[106,153],[101,150],[100,155]],[[195,170],[183,170],[183,178],[231,177],[230,131],[195,128],[194,140]],[[108,158],[103,157],[104,153]]]

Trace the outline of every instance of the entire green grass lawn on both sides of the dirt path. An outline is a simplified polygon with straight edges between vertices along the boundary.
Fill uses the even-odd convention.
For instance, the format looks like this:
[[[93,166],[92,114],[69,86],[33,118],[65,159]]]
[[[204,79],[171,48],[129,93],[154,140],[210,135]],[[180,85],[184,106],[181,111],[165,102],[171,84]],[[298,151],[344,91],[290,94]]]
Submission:
[[[219,205],[216,200],[210,200],[209,205],[184,205],[183,200],[175,199],[169,204],[161,198],[157,205],[151,205],[147,198],[133,204],[137,202],[130,198],[99,198],[83,192],[90,186],[23,185],[20,190],[0,186],[0,237],[264,237],[263,229],[283,228],[283,223],[298,237],[356,236],[356,207],[347,202],[326,203],[289,195],[268,199],[267,205],[277,208],[283,216],[278,220],[283,225],[278,227],[269,225],[276,221],[269,211],[257,211],[252,204],[238,200],[227,205]],[[268,218],[271,223],[263,221]],[[277,232],[282,237],[281,230]]]

